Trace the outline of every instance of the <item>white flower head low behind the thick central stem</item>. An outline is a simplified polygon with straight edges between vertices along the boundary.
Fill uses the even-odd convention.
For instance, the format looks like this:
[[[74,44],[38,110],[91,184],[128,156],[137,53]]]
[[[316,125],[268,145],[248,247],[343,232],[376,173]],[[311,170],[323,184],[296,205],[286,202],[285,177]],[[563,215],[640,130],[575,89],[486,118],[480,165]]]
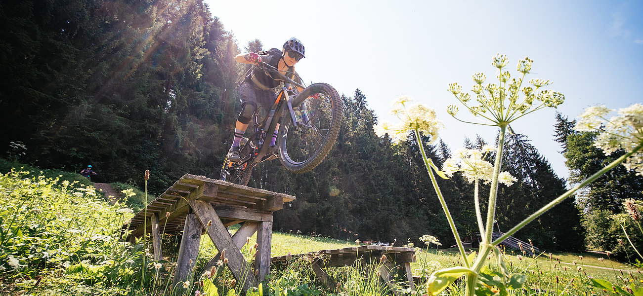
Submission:
[[[484,146],[482,150],[460,148],[453,153],[453,157],[444,161],[442,170],[449,177],[453,177],[453,173],[460,171],[469,183],[475,180],[484,180],[485,183],[491,182],[493,180],[493,165],[484,159],[489,152],[496,150],[497,148],[492,146]],[[498,175],[498,182],[506,186],[511,186],[516,180],[506,171]]]

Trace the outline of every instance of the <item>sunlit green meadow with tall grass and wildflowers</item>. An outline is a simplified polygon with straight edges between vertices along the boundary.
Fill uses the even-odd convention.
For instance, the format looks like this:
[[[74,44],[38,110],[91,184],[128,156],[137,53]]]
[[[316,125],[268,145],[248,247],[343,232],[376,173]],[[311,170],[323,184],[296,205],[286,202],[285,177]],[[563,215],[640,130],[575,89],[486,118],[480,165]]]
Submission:
[[[33,169],[33,168],[32,168]],[[57,176],[52,176],[59,173]],[[48,176],[48,177],[46,177]],[[119,189],[122,184],[114,184]],[[125,189],[121,204],[109,204],[91,182],[60,171],[11,171],[0,176],[0,293],[2,295],[238,295],[240,287],[223,266],[201,270],[217,252],[202,239],[197,268],[183,287],[171,287],[177,238],[164,236],[163,260],[154,262],[143,240],[125,243],[121,227],[133,216],[132,204],[145,194]],[[143,198],[144,200],[144,198]],[[231,227],[235,231],[235,227]],[[242,248],[252,261],[255,238]],[[354,246],[347,239],[273,233],[272,256]],[[410,247],[410,246],[409,246]],[[442,268],[459,266],[457,250],[435,245],[416,248],[412,263],[415,290],[400,283],[394,289],[362,275],[360,266],[327,270],[337,289],[321,286],[306,260],[273,269],[266,283],[246,295],[426,295],[426,279]],[[172,252],[172,250],[175,252]],[[469,252],[476,252],[470,249]],[[544,252],[527,256],[503,250],[511,273],[527,275],[520,289],[502,290],[501,266],[490,256],[485,268],[495,279],[476,295],[643,295],[643,275],[634,265],[601,254]],[[487,272],[487,274],[494,274]],[[440,295],[462,295],[464,281],[455,281]],[[505,292],[507,294],[505,294]]]

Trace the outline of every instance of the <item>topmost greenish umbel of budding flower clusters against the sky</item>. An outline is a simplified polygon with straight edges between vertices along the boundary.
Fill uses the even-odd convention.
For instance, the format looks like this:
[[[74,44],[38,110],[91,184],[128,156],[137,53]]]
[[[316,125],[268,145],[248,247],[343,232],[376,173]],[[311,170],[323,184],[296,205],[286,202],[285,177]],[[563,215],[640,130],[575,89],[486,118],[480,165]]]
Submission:
[[[531,70],[532,60],[524,58],[518,62],[516,70],[520,72],[520,77],[511,78],[509,71],[503,71],[507,65],[507,57],[505,55],[496,55],[493,58],[493,66],[498,68],[500,73],[498,78],[499,84],[487,83],[484,84],[486,76],[483,73],[473,74],[472,92],[475,93],[477,105],[471,105],[471,96],[462,92],[462,87],[458,83],[449,84],[449,92],[451,92],[462,103],[471,114],[474,116],[484,118],[491,122],[491,125],[508,125],[512,121],[545,107],[554,107],[563,103],[565,96],[560,92],[550,90],[539,90],[550,84],[549,80],[532,79],[529,81],[531,86],[522,86],[525,75]],[[523,98],[520,99],[520,93],[523,93]],[[534,101],[539,103],[534,107]],[[447,107],[449,115],[455,118],[458,113],[458,107],[449,105]]]

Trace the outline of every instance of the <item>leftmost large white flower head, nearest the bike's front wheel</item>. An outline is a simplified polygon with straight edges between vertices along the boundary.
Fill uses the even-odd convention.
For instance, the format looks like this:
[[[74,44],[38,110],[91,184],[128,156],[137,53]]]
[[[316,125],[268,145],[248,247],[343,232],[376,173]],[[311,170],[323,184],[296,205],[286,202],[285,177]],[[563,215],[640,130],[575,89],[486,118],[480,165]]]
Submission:
[[[431,135],[431,141],[437,139],[438,130],[443,128],[444,125],[435,117],[435,110],[420,103],[410,105],[410,101],[413,101],[413,99],[408,96],[401,96],[391,103],[392,110],[390,114],[397,116],[401,123],[392,125],[385,122],[375,126],[375,132],[378,136],[388,134],[394,142],[397,142],[401,139],[406,139],[410,130],[418,130],[425,135]]]

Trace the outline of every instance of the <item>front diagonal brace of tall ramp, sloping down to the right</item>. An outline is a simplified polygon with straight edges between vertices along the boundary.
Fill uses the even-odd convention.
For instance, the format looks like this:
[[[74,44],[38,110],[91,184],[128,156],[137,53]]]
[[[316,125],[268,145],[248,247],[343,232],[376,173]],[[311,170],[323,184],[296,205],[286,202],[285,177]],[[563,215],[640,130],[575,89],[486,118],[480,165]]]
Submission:
[[[251,266],[249,266],[239,248],[232,241],[228,229],[223,226],[212,205],[203,200],[190,200],[189,204],[194,213],[197,214],[197,218],[203,227],[207,227],[208,223],[212,222],[212,225],[208,228],[208,236],[210,236],[212,243],[218,250],[226,251],[228,268],[237,279],[237,283],[242,285],[242,290],[247,291],[251,286],[257,286],[257,279],[250,270]]]

